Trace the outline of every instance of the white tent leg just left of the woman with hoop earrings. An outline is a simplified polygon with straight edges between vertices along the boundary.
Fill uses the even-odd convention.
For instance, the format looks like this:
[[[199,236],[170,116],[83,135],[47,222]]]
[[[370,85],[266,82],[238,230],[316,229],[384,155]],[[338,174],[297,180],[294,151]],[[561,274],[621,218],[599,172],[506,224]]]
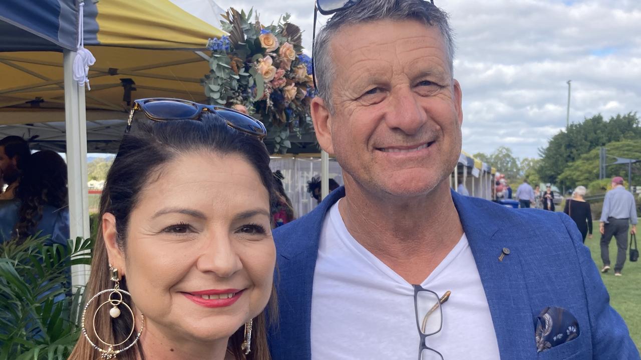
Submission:
[[[65,127],[67,129],[67,177],[69,181],[69,229],[72,239],[88,238],[89,204],[87,186],[87,113],[85,86],[78,86],[73,78],[72,65],[75,51],[65,50]],[[71,282],[75,286],[87,284],[88,265],[71,268]]]

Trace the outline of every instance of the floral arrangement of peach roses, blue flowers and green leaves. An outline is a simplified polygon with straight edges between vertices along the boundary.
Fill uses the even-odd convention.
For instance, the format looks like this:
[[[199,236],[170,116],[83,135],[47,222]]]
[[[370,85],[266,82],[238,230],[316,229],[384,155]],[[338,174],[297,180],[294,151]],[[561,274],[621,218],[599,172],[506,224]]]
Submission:
[[[210,73],[203,79],[212,104],[221,104],[261,120],[274,151],[287,152],[290,134],[312,129],[312,59],[303,54],[301,29],[285,14],[264,26],[258,15],[230,8],[222,15],[229,36],[211,39]]]

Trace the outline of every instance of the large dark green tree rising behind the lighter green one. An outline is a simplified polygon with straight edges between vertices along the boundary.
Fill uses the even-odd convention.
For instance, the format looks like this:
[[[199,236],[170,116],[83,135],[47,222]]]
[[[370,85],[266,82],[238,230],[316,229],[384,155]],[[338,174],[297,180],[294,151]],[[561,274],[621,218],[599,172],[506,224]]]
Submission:
[[[567,131],[554,135],[547,147],[539,149],[542,161],[538,167],[538,176],[545,183],[569,185],[558,177],[570,163],[578,160],[583,154],[606,143],[640,136],[641,127],[637,113],[619,114],[607,122],[599,114],[585,119],[580,124],[571,124]]]

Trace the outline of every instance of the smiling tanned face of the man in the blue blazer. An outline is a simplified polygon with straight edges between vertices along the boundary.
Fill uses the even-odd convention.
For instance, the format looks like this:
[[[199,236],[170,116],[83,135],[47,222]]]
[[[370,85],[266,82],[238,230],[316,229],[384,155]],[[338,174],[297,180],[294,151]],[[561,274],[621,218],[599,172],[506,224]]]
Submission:
[[[463,121],[440,31],[380,20],[341,29],[329,46],[334,113],[319,142],[345,182],[401,197],[433,190],[456,165]]]

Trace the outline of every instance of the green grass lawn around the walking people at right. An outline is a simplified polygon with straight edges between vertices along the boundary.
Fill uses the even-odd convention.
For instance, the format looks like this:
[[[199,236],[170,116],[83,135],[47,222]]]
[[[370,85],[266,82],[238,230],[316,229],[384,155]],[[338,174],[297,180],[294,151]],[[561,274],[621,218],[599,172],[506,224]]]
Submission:
[[[641,227],[639,228],[641,229]],[[639,234],[638,234],[639,235]],[[639,236],[637,235],[637,238]],[[628,235],[629,237],[629,235]],[[601,234],[599,234],[599,222],[594,222],[594,235],[592,239],[587,238],[585,245],[590,248],[592,252],[592,259],[599,270],[603,263],[601,261]],[[628,239],[629,245],[629,239]],[[610,266],[612,269],[606,274],[601,274],[601,279],[608,288],[610,293],[610,304],[614,307],[619,314],[626,320],[628,329],[632,340],[637,344],[637,348],[641,352],[641,311],[639,311],[639,303],[641,299],[641,262],[631,263],[629,261],[629,250],[626,254],[626,263],[623,267],[621,274],[623,276],[614,276],[614,263],[617,260],[617,241],[612,238],[610,241]]]

